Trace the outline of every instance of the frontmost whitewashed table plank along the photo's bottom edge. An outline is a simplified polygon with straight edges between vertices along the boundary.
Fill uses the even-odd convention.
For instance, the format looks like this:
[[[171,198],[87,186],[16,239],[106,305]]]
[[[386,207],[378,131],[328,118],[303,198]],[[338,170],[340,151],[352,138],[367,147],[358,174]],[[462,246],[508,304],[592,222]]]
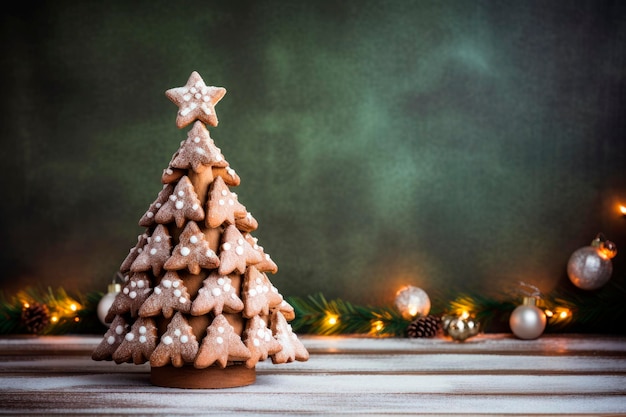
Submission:
[[[260,385],[276,381],[261,381]],[[257,385],[258,386],[258,385]],[[120,387],[121,388],[121,387]],[[40,392],[36,397],[0,393],[0,411],[11,415],[600,415],[626,413],[625,397],[616,395],[423,394],[389,392],[284,393],[268,390],[245,395],[224,391],[158,390],[103,393],[74,390]],[[15,410],[19,410],[16,412]]]

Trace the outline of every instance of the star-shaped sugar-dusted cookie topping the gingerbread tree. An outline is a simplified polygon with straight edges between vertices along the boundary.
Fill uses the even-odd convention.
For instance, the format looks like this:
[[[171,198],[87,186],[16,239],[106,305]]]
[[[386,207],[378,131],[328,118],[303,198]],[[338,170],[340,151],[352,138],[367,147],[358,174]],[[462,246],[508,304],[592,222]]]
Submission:
[[[224,94],[225,88],[207,86],[196,71],[191,73],[184,87],[170,88],[165,92],[167,98],[178,106],[178,128],[183,128],[196,119],[210,126],[217,126],[215,105]]]

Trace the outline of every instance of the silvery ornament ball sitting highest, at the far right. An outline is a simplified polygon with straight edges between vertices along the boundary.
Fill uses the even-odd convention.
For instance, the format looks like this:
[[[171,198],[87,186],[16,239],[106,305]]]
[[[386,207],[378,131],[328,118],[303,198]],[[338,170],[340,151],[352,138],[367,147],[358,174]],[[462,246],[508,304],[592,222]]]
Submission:
[[[611,259],[602,256],[593,246],[585,246],[574,253],[567,263],[570,281],[583,290],[595,290],[606,284],[613,273]]]

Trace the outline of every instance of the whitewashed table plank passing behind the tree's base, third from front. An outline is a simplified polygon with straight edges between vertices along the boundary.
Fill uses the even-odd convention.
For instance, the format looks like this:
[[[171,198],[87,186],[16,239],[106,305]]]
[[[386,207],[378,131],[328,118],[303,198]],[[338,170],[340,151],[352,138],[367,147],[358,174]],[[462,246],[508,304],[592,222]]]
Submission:
[[[149,372],[148,364],[93,361],[88,356],[0,360],[2,373]],[[313,354],[306,362],[257,364],[262,373],[622,373],[626,357],[524,356],[501,354]]]

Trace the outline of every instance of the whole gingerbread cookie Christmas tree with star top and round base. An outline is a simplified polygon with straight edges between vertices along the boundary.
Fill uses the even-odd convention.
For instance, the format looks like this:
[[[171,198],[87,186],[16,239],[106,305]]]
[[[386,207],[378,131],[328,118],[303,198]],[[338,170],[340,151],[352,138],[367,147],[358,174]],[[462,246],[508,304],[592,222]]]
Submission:
[[[193,72],[166,91],[187,138],[163,171],[163,189],[139,220],[120,266],[122,291],[94,360],[150,363],[151,382],[225,388],[255,381],[255,366],[306,361],[293,308],[272,285],[278,271],[253,236],[258,223],[231,191],[240,178],[210,136],[226,90]]]

